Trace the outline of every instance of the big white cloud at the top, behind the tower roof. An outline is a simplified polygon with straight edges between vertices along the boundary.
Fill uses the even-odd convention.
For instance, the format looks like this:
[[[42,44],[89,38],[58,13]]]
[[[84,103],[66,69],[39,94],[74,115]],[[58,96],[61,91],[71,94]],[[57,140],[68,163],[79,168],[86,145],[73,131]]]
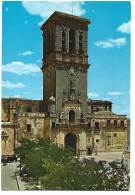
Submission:
[[[81,7],[83,4],[83,1],[74,1],[74,15],[82,16],[85,14],[86,10]],[[55,11],[72,14],[72,1],[23,1],[22,6],[28,13],[39,15],[44,20],[50,17]]]

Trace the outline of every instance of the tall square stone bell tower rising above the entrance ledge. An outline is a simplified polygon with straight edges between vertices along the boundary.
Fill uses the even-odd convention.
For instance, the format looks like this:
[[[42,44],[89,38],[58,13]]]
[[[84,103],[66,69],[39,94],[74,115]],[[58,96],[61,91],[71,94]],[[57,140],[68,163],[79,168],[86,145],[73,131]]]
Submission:
[[[86,121],[89,24],[56,11],[41,26],[44,111],[56,122]]]

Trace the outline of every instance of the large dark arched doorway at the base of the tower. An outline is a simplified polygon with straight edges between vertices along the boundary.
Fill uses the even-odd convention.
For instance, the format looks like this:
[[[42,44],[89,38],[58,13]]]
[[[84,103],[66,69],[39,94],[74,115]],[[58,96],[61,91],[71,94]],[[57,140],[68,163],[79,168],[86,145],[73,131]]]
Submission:
[[[74,133],[68,133],[65,136],[65,147],[72,147],[75,151],[76,154],[76,149],[77,149],[77,137]]]

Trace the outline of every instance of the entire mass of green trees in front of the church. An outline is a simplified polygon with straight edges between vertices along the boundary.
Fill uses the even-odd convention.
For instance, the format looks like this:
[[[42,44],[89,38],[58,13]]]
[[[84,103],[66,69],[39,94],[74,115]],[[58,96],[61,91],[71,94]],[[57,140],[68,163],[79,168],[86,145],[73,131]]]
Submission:
[[[15,153],[45,190],[128,190],[126,170],[105,170],[94,161],[81,161],[72,148],[59,148],[49,138],[23,139]]]

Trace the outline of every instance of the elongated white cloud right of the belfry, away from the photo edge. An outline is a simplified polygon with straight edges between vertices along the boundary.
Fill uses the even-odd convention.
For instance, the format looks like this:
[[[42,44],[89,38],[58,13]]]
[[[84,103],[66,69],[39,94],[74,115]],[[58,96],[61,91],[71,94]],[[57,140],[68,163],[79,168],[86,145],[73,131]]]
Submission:
[[[120,48],[121,46],[126,45],[126,38],[118,39],[107,39],[106,41],[98,41],[95,43],[96,46],[101,48]]]

